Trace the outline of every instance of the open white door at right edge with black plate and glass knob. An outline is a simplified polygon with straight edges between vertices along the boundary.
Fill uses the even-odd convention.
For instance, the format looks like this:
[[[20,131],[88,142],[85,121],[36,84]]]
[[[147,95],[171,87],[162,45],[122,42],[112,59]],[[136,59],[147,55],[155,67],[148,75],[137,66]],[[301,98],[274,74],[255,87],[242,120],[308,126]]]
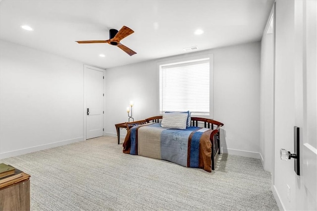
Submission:
[[[300,126],[296,210],[317,210],[317,1],[295,1],[295,124]]]

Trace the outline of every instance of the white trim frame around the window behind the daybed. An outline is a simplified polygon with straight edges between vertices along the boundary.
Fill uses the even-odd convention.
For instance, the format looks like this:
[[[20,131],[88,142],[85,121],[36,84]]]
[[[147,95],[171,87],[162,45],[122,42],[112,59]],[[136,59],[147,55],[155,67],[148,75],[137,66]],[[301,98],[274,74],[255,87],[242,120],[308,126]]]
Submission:
[[[182,63],[187,63],[189,61],[196,61],[196,60],[204,60],[204,59],[209,59],[209,68],[210,68],[210,79],[209,79],[209,89],[210,89],[210,96],[209,96],[209,115],[199,115],[195,114],[192,116],[195,117],[204,117],[204,118],[213,118],[213,53],[208,53],[208,54],[201,54],[201,55],[196,55],[196,56],[186,56],[186,57],[181,57],[181,58],[166,58],[165,60],[157,62],[157,96],[158,96],[158,103],[157,103],[157,112],[159,115],[162,115],[162,112],[160,112],[160,71],[161,71],[161,66],[164,65],[177,65],[177,64],[182,64]]]

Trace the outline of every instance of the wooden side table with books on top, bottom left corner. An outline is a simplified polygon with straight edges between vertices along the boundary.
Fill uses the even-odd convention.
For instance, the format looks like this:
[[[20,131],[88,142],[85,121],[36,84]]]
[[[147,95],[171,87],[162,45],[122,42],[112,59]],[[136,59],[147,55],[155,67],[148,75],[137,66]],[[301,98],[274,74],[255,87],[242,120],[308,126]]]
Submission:
[[[30,210],[30,175],[0,184],[0,211]]]

